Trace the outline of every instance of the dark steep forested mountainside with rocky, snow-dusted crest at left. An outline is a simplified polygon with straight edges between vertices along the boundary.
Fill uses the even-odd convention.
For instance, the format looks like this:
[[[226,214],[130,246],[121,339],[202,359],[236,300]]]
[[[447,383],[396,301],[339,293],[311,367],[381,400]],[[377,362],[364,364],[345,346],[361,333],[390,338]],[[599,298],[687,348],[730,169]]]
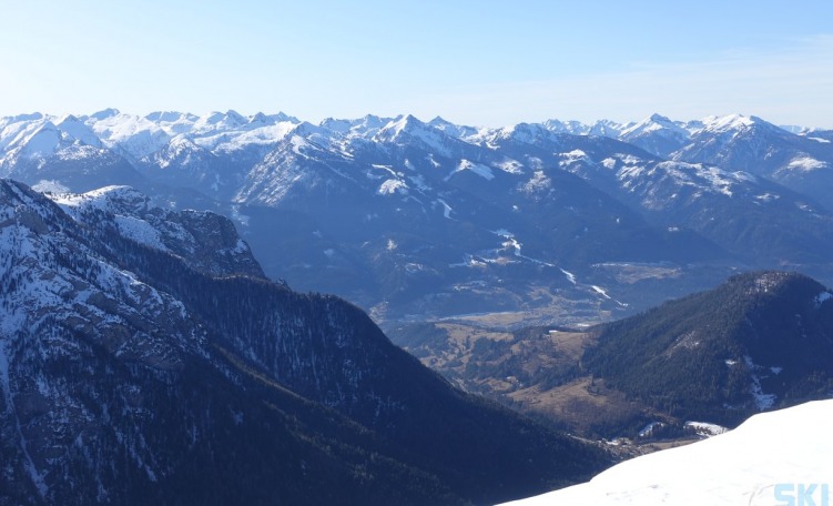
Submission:
[[[264,280],[225,219],[53,199],[0,181],[0,504],[486,504],[605,464]]]

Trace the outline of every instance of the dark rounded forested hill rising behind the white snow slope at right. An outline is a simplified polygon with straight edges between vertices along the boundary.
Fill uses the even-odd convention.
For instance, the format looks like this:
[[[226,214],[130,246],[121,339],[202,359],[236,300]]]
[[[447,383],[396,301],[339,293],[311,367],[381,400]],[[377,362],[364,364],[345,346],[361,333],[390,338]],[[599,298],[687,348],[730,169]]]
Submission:
[[[794,273],[737,275],[713,291],[596,327],[599,344],[583,366],[674,416],[733,425],[759,409],[755,383],[780,403],[825,387],[825,381],[807,383],[833,374],[833,305],[814,298],[823,292]]]

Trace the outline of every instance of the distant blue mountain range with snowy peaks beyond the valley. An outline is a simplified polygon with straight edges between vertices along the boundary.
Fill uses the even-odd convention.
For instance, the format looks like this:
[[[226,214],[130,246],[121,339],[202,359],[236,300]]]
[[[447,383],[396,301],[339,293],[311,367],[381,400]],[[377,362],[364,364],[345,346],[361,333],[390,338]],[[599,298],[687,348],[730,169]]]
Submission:
[[[603,313],[710,286],[725,267],[829,281],[830,136],[738,114],[486,129],[105,110],[0,119],[0,175],[222,212],[270,277],[379,318],[522,311],[556,294]],[[658,262],[678,272],[658,298],[621,283],[622,269]],[[721,265],[704,284],[687,276],[702,262]]]

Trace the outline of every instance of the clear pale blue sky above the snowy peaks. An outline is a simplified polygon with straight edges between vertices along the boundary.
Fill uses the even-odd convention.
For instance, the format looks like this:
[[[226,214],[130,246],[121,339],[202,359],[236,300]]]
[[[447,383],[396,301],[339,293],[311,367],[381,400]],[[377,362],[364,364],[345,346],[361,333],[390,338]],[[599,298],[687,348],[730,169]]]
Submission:
[[[833,128],[833,1],[0,4],[0,115],[234,109]]]

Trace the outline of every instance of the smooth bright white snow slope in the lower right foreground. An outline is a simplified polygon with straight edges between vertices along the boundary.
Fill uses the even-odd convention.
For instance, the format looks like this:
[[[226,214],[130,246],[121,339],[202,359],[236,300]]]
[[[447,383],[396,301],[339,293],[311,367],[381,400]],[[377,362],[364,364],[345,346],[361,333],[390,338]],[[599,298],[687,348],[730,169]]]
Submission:
[[[638,457],[589,483],[509,505],[827,506],[831,419],[833,401],[756,415],[730,433]]]

